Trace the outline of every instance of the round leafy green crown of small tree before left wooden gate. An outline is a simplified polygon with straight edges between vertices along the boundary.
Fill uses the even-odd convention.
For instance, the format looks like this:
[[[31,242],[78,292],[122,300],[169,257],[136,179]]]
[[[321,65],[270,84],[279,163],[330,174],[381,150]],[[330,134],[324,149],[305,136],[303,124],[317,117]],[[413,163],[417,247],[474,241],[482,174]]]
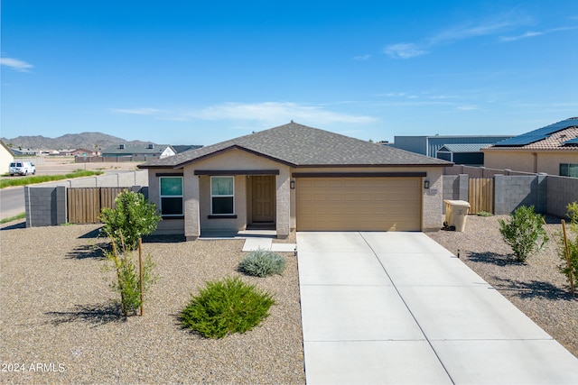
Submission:
[[[100,230],[101,235],[114,239],[117,244],[124,244],[127,250],[135,250],[139,238],[156,230],[161,215],[143,194],[129,190],[120,193],[115,204],[116,208],[103,208],[100,213],[100,221],[105,224]]]

